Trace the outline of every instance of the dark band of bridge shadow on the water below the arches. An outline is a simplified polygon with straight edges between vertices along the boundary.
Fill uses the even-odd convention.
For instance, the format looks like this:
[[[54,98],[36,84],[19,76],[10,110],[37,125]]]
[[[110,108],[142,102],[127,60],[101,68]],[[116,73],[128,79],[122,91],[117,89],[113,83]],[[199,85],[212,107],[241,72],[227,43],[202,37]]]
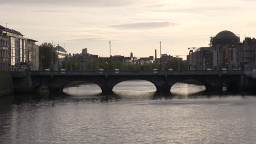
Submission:
[[[65,93],[61,94],[47,94],[34,95],[34,94],[13,94],[5,95],[0,98],[0,104],[12,105],[12,104],[24,104],[24,103],[39,103],[42,101],[62,101],[61,103],[84,103],[84,104],[97,104],[97,103],[111,103],[111,102],[129,102],[129,101],[147,101],[147,100],[164,100],[164,99],[210,99],[214,97],[225,98],[229,96],[243,97],[246,95],[255,95],[255,93],[206,93],[205,91],[199,91],[195,93],[189,93],[187,95],[179,93],[159,93],[159,92],[147,92],[141,94],[129,94],[129,93],[109,93],[109,94],[96,94],[96,95],[69,95]]]

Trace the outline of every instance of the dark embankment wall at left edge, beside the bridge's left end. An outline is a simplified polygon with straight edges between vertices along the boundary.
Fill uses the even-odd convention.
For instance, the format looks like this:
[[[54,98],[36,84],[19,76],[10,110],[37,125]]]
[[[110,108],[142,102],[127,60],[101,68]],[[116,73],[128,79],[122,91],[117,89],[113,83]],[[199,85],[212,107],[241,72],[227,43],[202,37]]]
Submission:
[[[8,71],[0,70],[0,96],[13,93],[13,82]]]

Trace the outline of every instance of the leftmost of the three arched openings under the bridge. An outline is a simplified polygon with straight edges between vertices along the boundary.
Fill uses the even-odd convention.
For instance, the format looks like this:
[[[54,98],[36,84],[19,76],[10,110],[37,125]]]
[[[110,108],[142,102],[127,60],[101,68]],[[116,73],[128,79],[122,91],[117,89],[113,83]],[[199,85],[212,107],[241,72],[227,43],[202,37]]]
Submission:
[[[89,81],[73,81],[63,87],[63,92],[73,96],[88,96],[101,94],[101,88]]]

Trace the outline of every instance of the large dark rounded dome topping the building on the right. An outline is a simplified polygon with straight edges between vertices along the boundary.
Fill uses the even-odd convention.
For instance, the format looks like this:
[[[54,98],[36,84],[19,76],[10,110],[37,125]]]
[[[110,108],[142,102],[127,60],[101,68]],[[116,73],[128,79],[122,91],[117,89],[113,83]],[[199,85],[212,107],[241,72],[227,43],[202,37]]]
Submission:
[[[230,31],[222,31],[213,38],[213,45],[237,44],[239,41],[240,38],[234,33]]]

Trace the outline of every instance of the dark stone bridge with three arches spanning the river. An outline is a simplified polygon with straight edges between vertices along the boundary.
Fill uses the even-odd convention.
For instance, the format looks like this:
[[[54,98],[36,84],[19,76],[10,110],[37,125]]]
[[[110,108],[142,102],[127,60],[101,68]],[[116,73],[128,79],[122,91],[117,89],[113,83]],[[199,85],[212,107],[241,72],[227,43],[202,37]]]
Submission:
[[[154,84],[157,92],[170,93],[174,83],[196,80],[205,86],[207,92],[237,92],[254,87],[254,80],[248,80],[241,70],[85,70],[85,71],[27,71],[13,72],[15,92],[37,92],[46,86],[50,92],[62,92],[73,81],[86,81],[98,85],[102,93],[111,93],[115,85],[128,80],[145,80]]]

